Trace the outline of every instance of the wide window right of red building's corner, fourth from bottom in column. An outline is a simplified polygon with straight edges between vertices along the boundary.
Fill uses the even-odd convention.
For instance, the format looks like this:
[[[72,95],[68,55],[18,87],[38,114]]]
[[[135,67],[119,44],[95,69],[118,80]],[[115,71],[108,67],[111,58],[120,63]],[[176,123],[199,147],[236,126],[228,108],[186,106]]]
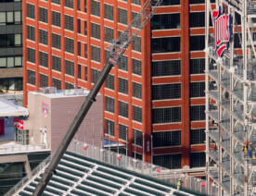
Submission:
[[[152,100],[181,98],[181,84],[152,85]]]

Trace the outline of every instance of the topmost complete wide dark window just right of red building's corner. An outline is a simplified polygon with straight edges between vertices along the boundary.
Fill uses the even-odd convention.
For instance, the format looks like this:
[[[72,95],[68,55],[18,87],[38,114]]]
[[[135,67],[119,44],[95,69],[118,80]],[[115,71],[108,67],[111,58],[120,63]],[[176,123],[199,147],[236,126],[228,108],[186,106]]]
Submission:
[[[152,30],[181,29],[180,14],[157,14],[151,19]]]

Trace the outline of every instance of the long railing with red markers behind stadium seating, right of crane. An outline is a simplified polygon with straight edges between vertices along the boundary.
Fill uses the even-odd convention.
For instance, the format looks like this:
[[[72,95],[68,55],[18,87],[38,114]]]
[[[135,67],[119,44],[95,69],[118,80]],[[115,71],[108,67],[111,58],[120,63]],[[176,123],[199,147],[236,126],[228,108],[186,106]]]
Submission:
[[[153,165],[141,160],[137,160],[124,154],[114,153],[107,149],[101,149],[90,144],[84,144],[83,142],[76,140],[70,142],[68,151],[81,154],[88,158],[96,159],[97,161],[109,165],[119,166],[152,178],[158,178],[161,181],[169,183],[170,185],[176,185],[178,179],[181,178],[183,181],[182,187],[204,194],[207,194],[207,187],[210,186],[211,195],[217,195],[217,187],[215,184],[200,178],[194,178],[186,175],[188,172],[193,172],[193,169],[173,170],[160,165]]]

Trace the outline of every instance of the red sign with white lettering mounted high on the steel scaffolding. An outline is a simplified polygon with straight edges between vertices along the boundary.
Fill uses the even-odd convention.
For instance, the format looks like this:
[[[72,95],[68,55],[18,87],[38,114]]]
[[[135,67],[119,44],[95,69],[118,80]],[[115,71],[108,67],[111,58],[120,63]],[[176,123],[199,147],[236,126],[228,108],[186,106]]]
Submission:
[[[219,10],[213,10],[212,23],[214,27],[214,49],[221,57],[224,50],[229,47],[232,34],[231,16],[224,14],[224,6],[219,6]]]

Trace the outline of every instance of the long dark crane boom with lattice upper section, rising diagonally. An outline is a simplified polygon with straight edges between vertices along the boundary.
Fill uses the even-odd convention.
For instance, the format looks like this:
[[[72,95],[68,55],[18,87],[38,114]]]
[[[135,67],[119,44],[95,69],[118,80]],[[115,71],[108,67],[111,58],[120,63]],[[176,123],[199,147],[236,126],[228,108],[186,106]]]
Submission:
[[[96,94],[97,92],[99,92],[104,81],[109,75],[111,68],[118,64],[123,53],[128,48],[129,44],[132,43],[135,36],[137,36],[138,33],[142,31],[142,29],[147,25],[147,22],[149,21],[150,18],[153,17],[161,2],[162,0],[147,0],[147,2],[142,7],[141,11],[136,15],[136,17],[132,21],[132,23],[127,27],[125,31],[122,31],[122,34],[118,38],[118,40],[113,42],[112,46],[110,47],[109,61],[102,69],[98,79],[96,80],[94,87],[92,88],[91,92],[89,92],[78,114],[75,116],[73,122],[71,123],[70,128],[67,131],[64,139],[58,146],[58,150],[53,156],[52,161],[45,168],[45,173],[43,177],[40,179],[39,183],[37,184],[35,190],[32,193],[33,196],[41,195],[44,192],[45,187],[47,186],[50,178],[56,171],[60,159],[69,147],[70,141],[72,140],[77,129],[79,129],[81,123],[83,122],[83,118],[88,113],[91,105],[95,102]]]

